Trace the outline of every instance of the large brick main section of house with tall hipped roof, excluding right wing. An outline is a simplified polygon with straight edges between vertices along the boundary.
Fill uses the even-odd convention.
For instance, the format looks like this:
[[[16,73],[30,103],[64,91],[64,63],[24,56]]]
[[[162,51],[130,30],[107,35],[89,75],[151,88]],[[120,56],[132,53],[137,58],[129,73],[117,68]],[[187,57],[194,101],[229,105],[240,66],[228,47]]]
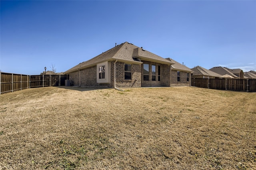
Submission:
[[[69,74],[74,86],[170,87],[171,64],[174,63],[125,42],[64,73]]]

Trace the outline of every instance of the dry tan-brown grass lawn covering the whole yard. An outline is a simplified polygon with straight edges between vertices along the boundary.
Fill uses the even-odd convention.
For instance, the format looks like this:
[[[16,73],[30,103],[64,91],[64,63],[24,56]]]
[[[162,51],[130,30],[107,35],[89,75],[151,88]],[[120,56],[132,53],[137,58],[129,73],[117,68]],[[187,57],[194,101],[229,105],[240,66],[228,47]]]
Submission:
[[[256,93],[47,87],[0,96],[0,170],[256,169]]]

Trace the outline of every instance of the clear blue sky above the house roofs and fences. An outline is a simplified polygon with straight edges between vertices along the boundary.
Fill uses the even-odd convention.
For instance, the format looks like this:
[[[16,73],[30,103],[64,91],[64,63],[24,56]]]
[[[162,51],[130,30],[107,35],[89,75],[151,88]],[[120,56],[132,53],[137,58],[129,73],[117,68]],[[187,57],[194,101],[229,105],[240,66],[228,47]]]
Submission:
[[[256,1],[4,1],[0,70],[64,72],[125,41],[189,68],[256,70]]]

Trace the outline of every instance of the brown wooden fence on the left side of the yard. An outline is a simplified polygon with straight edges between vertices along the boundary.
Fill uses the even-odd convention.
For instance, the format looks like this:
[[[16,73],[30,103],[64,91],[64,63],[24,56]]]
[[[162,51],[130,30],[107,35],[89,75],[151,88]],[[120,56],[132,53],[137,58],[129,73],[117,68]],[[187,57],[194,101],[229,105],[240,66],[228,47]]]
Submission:
[[[27,88],[64,86],[68,75],[24,75],[0,72],[0,95]]]

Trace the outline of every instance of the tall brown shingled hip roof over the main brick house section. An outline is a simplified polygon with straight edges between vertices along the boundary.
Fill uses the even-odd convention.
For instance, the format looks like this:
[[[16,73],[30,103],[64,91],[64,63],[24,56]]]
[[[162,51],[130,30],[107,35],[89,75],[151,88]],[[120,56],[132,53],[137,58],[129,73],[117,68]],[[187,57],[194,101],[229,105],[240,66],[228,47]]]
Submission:
[[[162,64],[173,64],[172,62],[155,55],[153,53],[150,53],[149,51],[146,51],[145,49],[142,49],[142,47],[137,47],[136,45],[133,45],[132,43],[122,43],[120,45],[117,45],[116,47],[113,47],[112,49],[109,49],[108,51],[88,60],[85,62],[82,62],[69,70],[65,71],[64,73],[67,74],[69,72],[73,72],[76,70],[81,70],[83,68],[93,66],[97,63],[102,63],[104,61],[111,61],[111,60],[118,60],[122,62],[128,62],[128,63],[138,63],[141,64],[141,60],[146,61],[154,61],[157,63]]]

